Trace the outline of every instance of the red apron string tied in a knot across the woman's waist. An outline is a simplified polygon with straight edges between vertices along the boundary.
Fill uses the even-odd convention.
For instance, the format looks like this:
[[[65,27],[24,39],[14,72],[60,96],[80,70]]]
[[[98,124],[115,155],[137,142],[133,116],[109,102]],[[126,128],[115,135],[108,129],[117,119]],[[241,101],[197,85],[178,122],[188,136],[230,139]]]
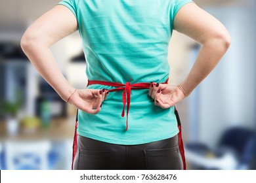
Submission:
[[[167,80],[163,84],[167,84],[168,80],[169,80],[169,78],[167,78]],[[130,109],[130,103],[131,103],[131,90],[148,89],[148,88],[150,88],[151,83],[152,82],[140,82],[140,83],[131,84],[130,82],[126,82],[125,84],[121,84],[119,82],[88,80],[87,86],[92,85],[92,84],[101,84],[101,85],[105,85],[105,86],[116,87],[116,88],[108,90],[108,92],[117,92],[117,91],[123,90],[123,93],[122,93],[123,110],[121,112],[121,116],[122,117],[125,116],[125,106],[127,105],[126,128],[125,128],[125,131],[127,131],[128,130],[128,115],[129,115],[129,109]]]

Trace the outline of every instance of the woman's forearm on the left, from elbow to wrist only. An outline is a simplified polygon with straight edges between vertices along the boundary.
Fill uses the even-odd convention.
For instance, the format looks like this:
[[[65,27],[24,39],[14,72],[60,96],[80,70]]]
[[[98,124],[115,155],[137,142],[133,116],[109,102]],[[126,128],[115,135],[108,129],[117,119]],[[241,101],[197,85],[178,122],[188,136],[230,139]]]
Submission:
[[[29,41],[26,37],[22,39],[21,46],[39,74],[53,87],[64,101],[68,101],[68,97],[72,95],[75,89],[60,71],[50,48],[44,44],[40,44],[40,42]]]

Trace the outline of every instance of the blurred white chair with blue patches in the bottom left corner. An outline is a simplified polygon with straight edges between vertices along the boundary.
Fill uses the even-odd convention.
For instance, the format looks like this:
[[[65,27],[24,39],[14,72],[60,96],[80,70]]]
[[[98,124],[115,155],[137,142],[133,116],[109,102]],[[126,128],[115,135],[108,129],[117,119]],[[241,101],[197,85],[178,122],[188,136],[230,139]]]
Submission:
[[[48,169],[49,141],[5,142],[6,168],[9,170]]]

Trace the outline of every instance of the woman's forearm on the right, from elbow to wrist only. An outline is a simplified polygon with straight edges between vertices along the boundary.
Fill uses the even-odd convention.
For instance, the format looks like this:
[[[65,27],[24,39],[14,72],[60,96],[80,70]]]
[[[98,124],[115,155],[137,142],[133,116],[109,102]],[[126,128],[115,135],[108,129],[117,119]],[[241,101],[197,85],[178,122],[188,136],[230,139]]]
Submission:
[[[230,42],[228,39],[218,38],[209,39],[209,41],[202,45],[190,73],[188,73],[188,76],[181,84],[186,95],[190,95],[194,88],[196,88],[196,86],[211,73],[224,56],[229,44]]]

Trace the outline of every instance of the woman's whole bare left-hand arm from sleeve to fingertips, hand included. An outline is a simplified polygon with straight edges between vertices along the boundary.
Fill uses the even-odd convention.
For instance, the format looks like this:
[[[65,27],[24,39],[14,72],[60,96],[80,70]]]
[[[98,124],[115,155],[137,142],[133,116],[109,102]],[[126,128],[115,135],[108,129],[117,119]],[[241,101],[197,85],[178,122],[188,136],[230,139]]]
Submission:
[[[76,30],[77,20],[74,14],[68,8],[57,5],[28,27],[22,37],[21,47],[35,69],[64,101],[85,112],[96,114],[100,111],[105,92],[102,94],[100,90],[75,90],[61,73],[50,50],[55,42]]]

